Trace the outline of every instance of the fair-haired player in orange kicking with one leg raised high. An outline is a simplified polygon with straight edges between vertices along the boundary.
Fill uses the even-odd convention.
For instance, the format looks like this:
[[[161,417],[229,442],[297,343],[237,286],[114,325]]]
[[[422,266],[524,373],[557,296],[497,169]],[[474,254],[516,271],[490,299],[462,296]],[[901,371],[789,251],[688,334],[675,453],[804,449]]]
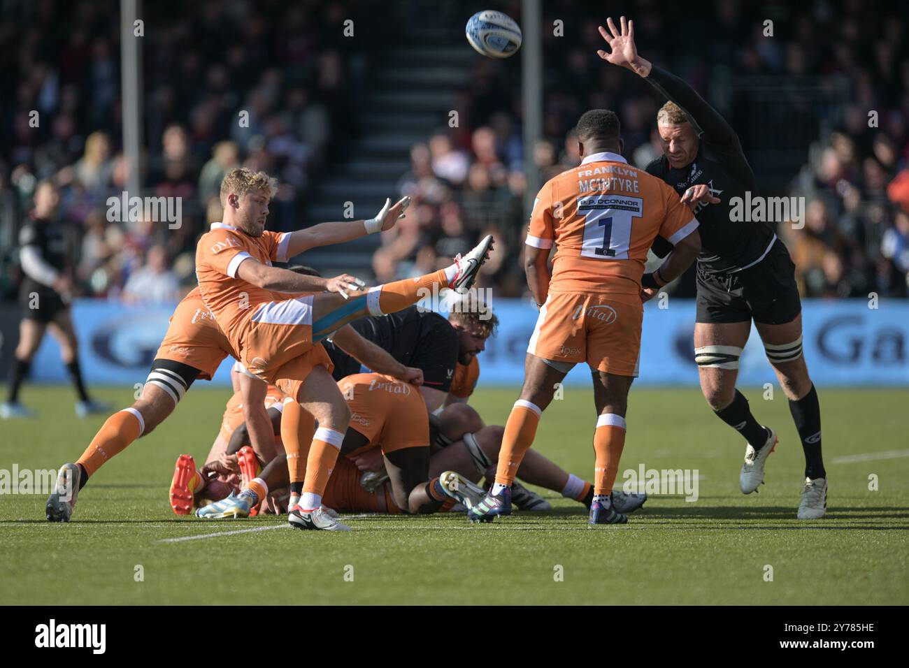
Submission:
[[[195,272],[205,304],[225,332],[232,350],[239,351],[247,371],[277,385],[294,401],[285,404],[281,436],[288,453],[292,489],[301,492],[299,508],[291,514],[296,526],[345,531],[348,527],[321,512],[322,494],[344,441],[350,411],[328,369],[325,350],[314,347],[356,318],[394,313],[415,304],[434,290],[465,292],[492,249],[487,235],[463,258],[433,274],[378,285],[368,290],[350,276],[325,281],[271,266],[297,254],[306,233],[265,232],[274,180],[264,173],[235,169],[221,184],[224,223],[212,225],[196,247]],[[407,200],[395,204],[387,218],[404,215]],[[385,212],[385,210],[384,210]],[[381,223],[337,224],[332,243],[378,232]],[[339,292],[275,300],[275,293]],[[349,294],[348,294],[349,293]],[[300,414],[319,424],[312,440],[298,433]]]

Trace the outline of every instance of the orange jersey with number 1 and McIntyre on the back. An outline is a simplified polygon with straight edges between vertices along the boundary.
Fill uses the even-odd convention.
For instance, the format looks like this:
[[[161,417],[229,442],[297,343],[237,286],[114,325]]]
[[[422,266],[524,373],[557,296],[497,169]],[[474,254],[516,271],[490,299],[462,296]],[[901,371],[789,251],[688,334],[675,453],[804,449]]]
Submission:
[[[697,219],[661,179],[614,153],[597,153],[548,181],[534,201],[526,244],[558,246],[555,292],[638,294],[657,234],[676,244]]]

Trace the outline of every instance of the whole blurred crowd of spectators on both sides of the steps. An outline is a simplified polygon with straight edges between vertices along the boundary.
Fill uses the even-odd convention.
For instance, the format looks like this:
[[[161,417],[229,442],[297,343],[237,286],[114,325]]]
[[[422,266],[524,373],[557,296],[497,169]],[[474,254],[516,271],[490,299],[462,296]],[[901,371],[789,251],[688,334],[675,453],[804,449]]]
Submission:
[[[161,224],[105,219],[105,199],[120,194],[127,178],[119,141],[119,25],[108,3],[0,6],[0,66],[12,73],[0,79],[0,118],[11,128],[0,134],[0,215],[21,221],[37,181],[54,177],[85,294],[142,300],[150,298],[143,289],[149,284],[155,294],[191,284],[195,238],[220,217],[217,189],[226,170],[249,165],[277,175],[282,185],[270,226],[285,229],[301,217],[314,179],[335,155],[328,147],[368,132],[355,91],[368,78],[369,50],[382,45],[357,40],[364,57],[339,40],[345,18],[391,11],[381,5],[145,3],[145,187],[148,194],[184,197],[177,234]],[[408,3],[392,5],[405,14],[398,5]],[[516,0],[501,8],[520,16]],[[446,11],[459,15],[450,6]],[[778,230],[805,296],[909,294],[904,7],[864,0],[698,6],[640,0],[615,11],[634,17],[643,55],[712,102],[715,82],[730,76],[844,77],[850,95],[838,105],[834,131],[820,132],[818,125],[788,189],[763,194],[805,198],[804,227]],[[646,82],[597,57],[603,42],[596,26],[604,19],[582,13],[571,0],[544,4],[544,139],[531,156],[522,145],[520,57],[472,62],[471,84],[457,92],[459,126],[411,149],[399,189],[414,204],[384,234],[373,262],[379,280],[422,273],[479,235],[494,234],[498,251],[484,267],[484,284],[501,296],[524,294],[524,160],[533,160],[541,183],[577,165],[571,129],[587,108],[619,113],[625,155],[634,165],[659,155],[655,115],[662,101]],[[767,19],[774,21],[772,37],[764,35]],[[549,26],[560,20],[563,35],[554,35]],[[38,128],[29,125],[31,110],[40,114]],[[236,123],[239,110],[249,112],[248,128]],[[734,106],[724,113],[746,155],[761,148],[750,115]],[[13,278],[4,275],[8,293]],[[165,278],[148,280],[160,275]],[[691,296],[693,289],[683,281],[678,294]]]

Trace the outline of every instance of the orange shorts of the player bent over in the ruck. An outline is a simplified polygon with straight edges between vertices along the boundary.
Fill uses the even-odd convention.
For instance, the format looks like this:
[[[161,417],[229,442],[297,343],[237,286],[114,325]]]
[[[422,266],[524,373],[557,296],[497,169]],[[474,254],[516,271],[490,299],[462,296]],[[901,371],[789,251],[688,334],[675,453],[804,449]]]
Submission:
[[[415,385],[382,374],[352,374],[338,381],[350,407],[350,428],[369,444],[349,455],[379,447],[384,454],[429,447],[429,414]]]

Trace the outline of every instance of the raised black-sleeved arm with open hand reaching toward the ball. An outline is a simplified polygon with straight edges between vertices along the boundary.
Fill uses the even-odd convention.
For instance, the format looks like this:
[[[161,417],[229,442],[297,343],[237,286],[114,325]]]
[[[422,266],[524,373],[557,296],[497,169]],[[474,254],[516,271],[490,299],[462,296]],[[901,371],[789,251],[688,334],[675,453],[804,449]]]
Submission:
[[[711,144],[737,144],[738,137],[732,126],[726,123],[714,107],[704,102],[704,98],[697,95],[694,88],[637,53],[634,45],[634,21],[625,21],[624,16],[620,21],[621,29],[615,27],[612,18],[606,20],[608,30],[600,26],[600,35],[603,35],[611,53],[600,50],[596,52],[597,55],[607,63],[619,65],[644,77],[661,95],[682,107],[703,141]]]

